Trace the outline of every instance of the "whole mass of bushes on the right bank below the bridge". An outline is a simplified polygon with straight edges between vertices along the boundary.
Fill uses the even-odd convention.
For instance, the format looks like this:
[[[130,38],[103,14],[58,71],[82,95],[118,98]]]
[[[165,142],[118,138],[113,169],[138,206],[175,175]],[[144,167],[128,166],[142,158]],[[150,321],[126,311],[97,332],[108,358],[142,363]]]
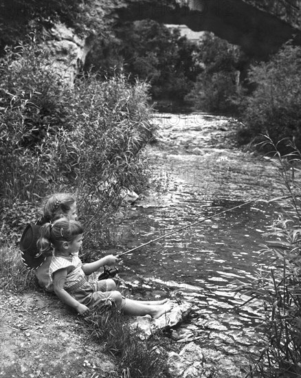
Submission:
[[[252,62],[241,49],[207,34],[197,60],[204,68],[186,98],[194,109],[230,113],[243,127],[241,143],[291,139],[301,147],[301,47],[285,44],[267,62]],[[287,142],[278,145],[288,152]]]

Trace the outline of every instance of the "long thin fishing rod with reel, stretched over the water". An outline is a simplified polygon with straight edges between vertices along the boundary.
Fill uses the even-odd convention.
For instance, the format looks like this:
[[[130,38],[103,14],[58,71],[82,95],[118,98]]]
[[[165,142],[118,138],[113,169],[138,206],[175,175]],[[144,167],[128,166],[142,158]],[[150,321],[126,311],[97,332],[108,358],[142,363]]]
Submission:
[[[161,240],[161,239],[163,239],[163,238],[166,238],[167,236],[170,236],[170,235],[172,235],[172,234],[175,234],[176,232],[180,232],[180,231],[186,230],[186,229],[188,229],[188,228],[190,228],[190,227],[193,227],[194,225],[197,225],[197,224],[199,224],[199,223],[202,223],[202,222],[208,221],[209,219],[212,219],[212,218],[214,218],[215,216],[219,216],[219,215],[225,214],[226,212],[230,212],[230,211],[232,211],[232,210],[235,210],[235,209],[241,208],[242,206],[248,205],[249,203],[254,203],[254,202],[256,202],[256,201],[258,201],[258,200],[260,200],[260,199],[264,199],[265,197],[268,197],[268,196],[271,196],[271,193],[269,193],[269,194],[265,194],[264,196],[258,197],[258,198],[256,198],[256,199],[252,199],[251,201],[247,201],[247,202],[241,203],[241,205],[236,205],[236,206],[234,206],[234,208],[230,208],[230,209],[227,209],[227,210],[223,210],[223,211],[218,212],[218,213],[216,213],[216,214],[213,214],[213,215],[207,216],[206,218],[203,218],[203,219],[201,219],[201,220],[199,220],[199,221],[196,221],[196,222],[194,222],[194,223],[191,223],[190,225],[186,225],[186,226],[184,226],[184,227],[181,227],[181,228],[179,228],[179,229],[177,229],[177,230],[175,230],[175,231],[168,232],[168,234],[164,234],[164,235],[162,235],[162,236],[159,236],[158,238],[155,238],[155,239],[153,239],[153,240],[151,240],[151,241],[148,241],[147,243],[144,243],[144,244],[142,244],[142,245],[138,245],[138,246],[135,247],[135,248],[129,249],[129,251],[122,252],[121,254],[116,255],[116,257],[120,258],[121,256],[124,256],[125,254],[129,254],[129,253],[131,253],[131,252],[133,252],[133,251],[135,251],[135,250],[137,250],[137,249],[140,249],[140,248],[142,248],[142,247],[145,247],[146,245],[149,245],[149,244],[151,244],[151,243],[155,243],[155,241],[159,241],[159,240]],[[118,269],[117,269],[116,267],[111,268],[111,269],[105,269],[105,268],[104,268],[104,273],[102,273],[98,279],[109,278],[110,276],[111,276],[111,277],[112,277],[112,276],[115,276],[115,274],[117,274],[117,273],[118,273]]]

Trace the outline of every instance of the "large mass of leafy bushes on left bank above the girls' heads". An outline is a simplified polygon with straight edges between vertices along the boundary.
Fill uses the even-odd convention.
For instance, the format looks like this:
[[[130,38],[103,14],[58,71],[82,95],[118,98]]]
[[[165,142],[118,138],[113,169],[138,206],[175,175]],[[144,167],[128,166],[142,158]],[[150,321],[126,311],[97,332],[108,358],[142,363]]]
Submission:
[[[0,71],[1,209],[77,192],[82,222],[98,237],[126,190],[139,191],[145,181],[141,151],[153,131],[148,86],[89,75],[70,89],[34,41],[8,49]]]

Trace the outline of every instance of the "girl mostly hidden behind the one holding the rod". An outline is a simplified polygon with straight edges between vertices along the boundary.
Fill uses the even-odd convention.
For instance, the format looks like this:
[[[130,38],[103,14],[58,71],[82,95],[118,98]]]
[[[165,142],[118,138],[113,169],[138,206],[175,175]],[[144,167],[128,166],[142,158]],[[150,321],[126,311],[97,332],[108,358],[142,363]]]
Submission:
[[[76,198],[74,195],[69,193],[55,193],[52,194],[45,201],[43,207],[43,217],[36,223],[38,225],[44,225],[45,223],[53,223],[56,219],[65,217],[67,219],[76,220],[77,219],[77,208],[76,208]],[[43,264],[34,269],[34,274],[38,278],[38,283],[43,289],[47,291],[54,291],[52,280],[49,277],[49,266],[52,260],[52,250],[45,254],[47,256]],[[106,265],[106,263],[103,263]],[[107,291],[115,290],[115,282],[109,278],[103,280],[102,285],[107,287]]]

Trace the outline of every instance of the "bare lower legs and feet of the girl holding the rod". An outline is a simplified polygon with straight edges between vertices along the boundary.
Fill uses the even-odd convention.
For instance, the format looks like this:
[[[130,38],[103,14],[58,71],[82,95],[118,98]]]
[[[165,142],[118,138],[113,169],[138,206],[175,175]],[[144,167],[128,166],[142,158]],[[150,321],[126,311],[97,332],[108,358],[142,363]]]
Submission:
[[[145,304],[137,300],[126,298],[122,300],[121,310],[125,315],[144,316],[150,315],[152,318],[159,318],[164,313],[170,312],[169,304]]]

